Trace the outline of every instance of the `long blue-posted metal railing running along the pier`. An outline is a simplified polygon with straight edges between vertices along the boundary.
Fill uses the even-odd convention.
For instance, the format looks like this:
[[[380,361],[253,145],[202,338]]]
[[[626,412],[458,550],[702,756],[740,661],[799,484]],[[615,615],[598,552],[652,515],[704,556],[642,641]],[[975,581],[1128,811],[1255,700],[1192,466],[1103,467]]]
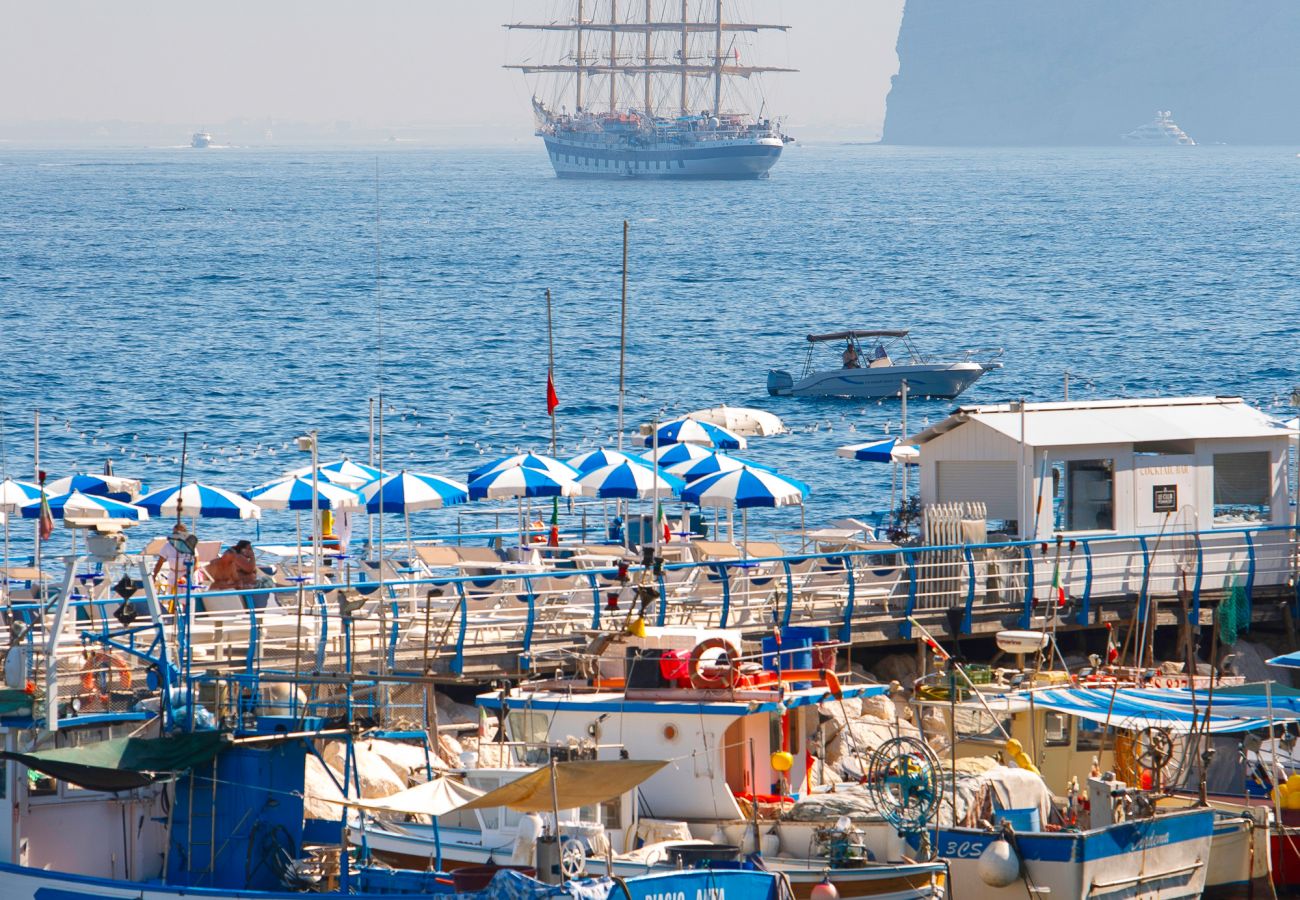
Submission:
[[[504,571],[481,575],[433,570],[382,581],[341,576],[342,583],[161,597],[148,588],[147,602],[136,601],[139,618],[125,623],[114,615],[116,598],[77,594],[62,624],[36,603],[16,603],[10,613],[29,624],[23,642],[38,675],[49,629],[62,628],[66,658],[51,683],[69,705],[77,698],[83,709],[126,708],[146,685],[161,689],[192,672],[317,679],[312,697],[324,704],[332,679],[417,684],[430,676],[550,670],[572,662],[593,632],[634,618],[736,628],[749,639],[774,627],[811,627],[850,645],[910,639],[913,618],[970,635],[982,622],[985,628],[989,622],[1031,627],[1048,613],[1063,626],[1089,624],[1102,606],[1143,620],[1157,602],[1169,609],[1170,598],[1179,598],[1178,607],[1186,601],[1199,622],[1208,600],[1227,594],[1249,605],[1266,593],[1295,605],[1297,548],[1295,528],[1270,525],[708,559],[649,570],[530,571],[502,562]],[[99,650],[122,663],[96,657]],[[277,695],[265,702],[286,696],[292,700]],[[365,702],[381,698],[368,696]],[[402,689],[385,688],[382,700],[402,705]],[[422,702],[410,698],[412,719]]]

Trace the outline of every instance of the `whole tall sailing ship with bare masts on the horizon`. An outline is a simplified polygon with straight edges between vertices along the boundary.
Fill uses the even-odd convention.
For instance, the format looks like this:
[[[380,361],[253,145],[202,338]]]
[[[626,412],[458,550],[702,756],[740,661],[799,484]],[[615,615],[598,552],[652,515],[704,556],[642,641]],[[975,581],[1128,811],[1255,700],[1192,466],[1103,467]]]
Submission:
[[[506,26],[563,38],[559,61],[507,66],[559,77],[552,81],[560,92],[550,103],[533,96],[537,135],[546,143],[556,176],[767,176],[793,138],[781,133],[780,120],[763,116],[766,104],[757,113],[736,109],[740,91],[727,88],[737,79],[794,72],[742,62],[737,46],[746,34],[789,26],[733,22],[723,0],[680,0],[680,5],[677,0],[576,0],[575,5],[575,14],[564,21]]]

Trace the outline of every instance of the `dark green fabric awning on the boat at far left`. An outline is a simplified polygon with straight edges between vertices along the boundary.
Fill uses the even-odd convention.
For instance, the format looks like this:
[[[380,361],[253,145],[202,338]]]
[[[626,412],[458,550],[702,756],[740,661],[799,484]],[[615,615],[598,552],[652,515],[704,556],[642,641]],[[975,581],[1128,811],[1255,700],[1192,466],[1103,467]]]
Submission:
[[[220,731],[195,731],[170,737],[114,737],[35,753],[0,752],[0,758],[87,791],[130,791],[211,762],[226,745]]]

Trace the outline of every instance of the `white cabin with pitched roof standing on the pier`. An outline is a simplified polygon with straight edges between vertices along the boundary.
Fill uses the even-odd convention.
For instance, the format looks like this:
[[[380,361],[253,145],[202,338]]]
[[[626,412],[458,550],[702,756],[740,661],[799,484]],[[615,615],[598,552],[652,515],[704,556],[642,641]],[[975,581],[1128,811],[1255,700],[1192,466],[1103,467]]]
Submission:
[[[1295,434],[1238,397],[1187,397],[959,407],[910,442],[920,447],[922,505],[984,503],[989,533],[1114,536],[1106,549],[1118,554],[1143,538],[1178,553],[1191,538],[1175,536],[1202,532],[1199,549],[1217,554],[1240,548],[1243,529],[1292,524]],[[1222,540],[1204,535],[1213,531]],[[1291,535],[1249,540],[1254,584],[1277,583]]]

